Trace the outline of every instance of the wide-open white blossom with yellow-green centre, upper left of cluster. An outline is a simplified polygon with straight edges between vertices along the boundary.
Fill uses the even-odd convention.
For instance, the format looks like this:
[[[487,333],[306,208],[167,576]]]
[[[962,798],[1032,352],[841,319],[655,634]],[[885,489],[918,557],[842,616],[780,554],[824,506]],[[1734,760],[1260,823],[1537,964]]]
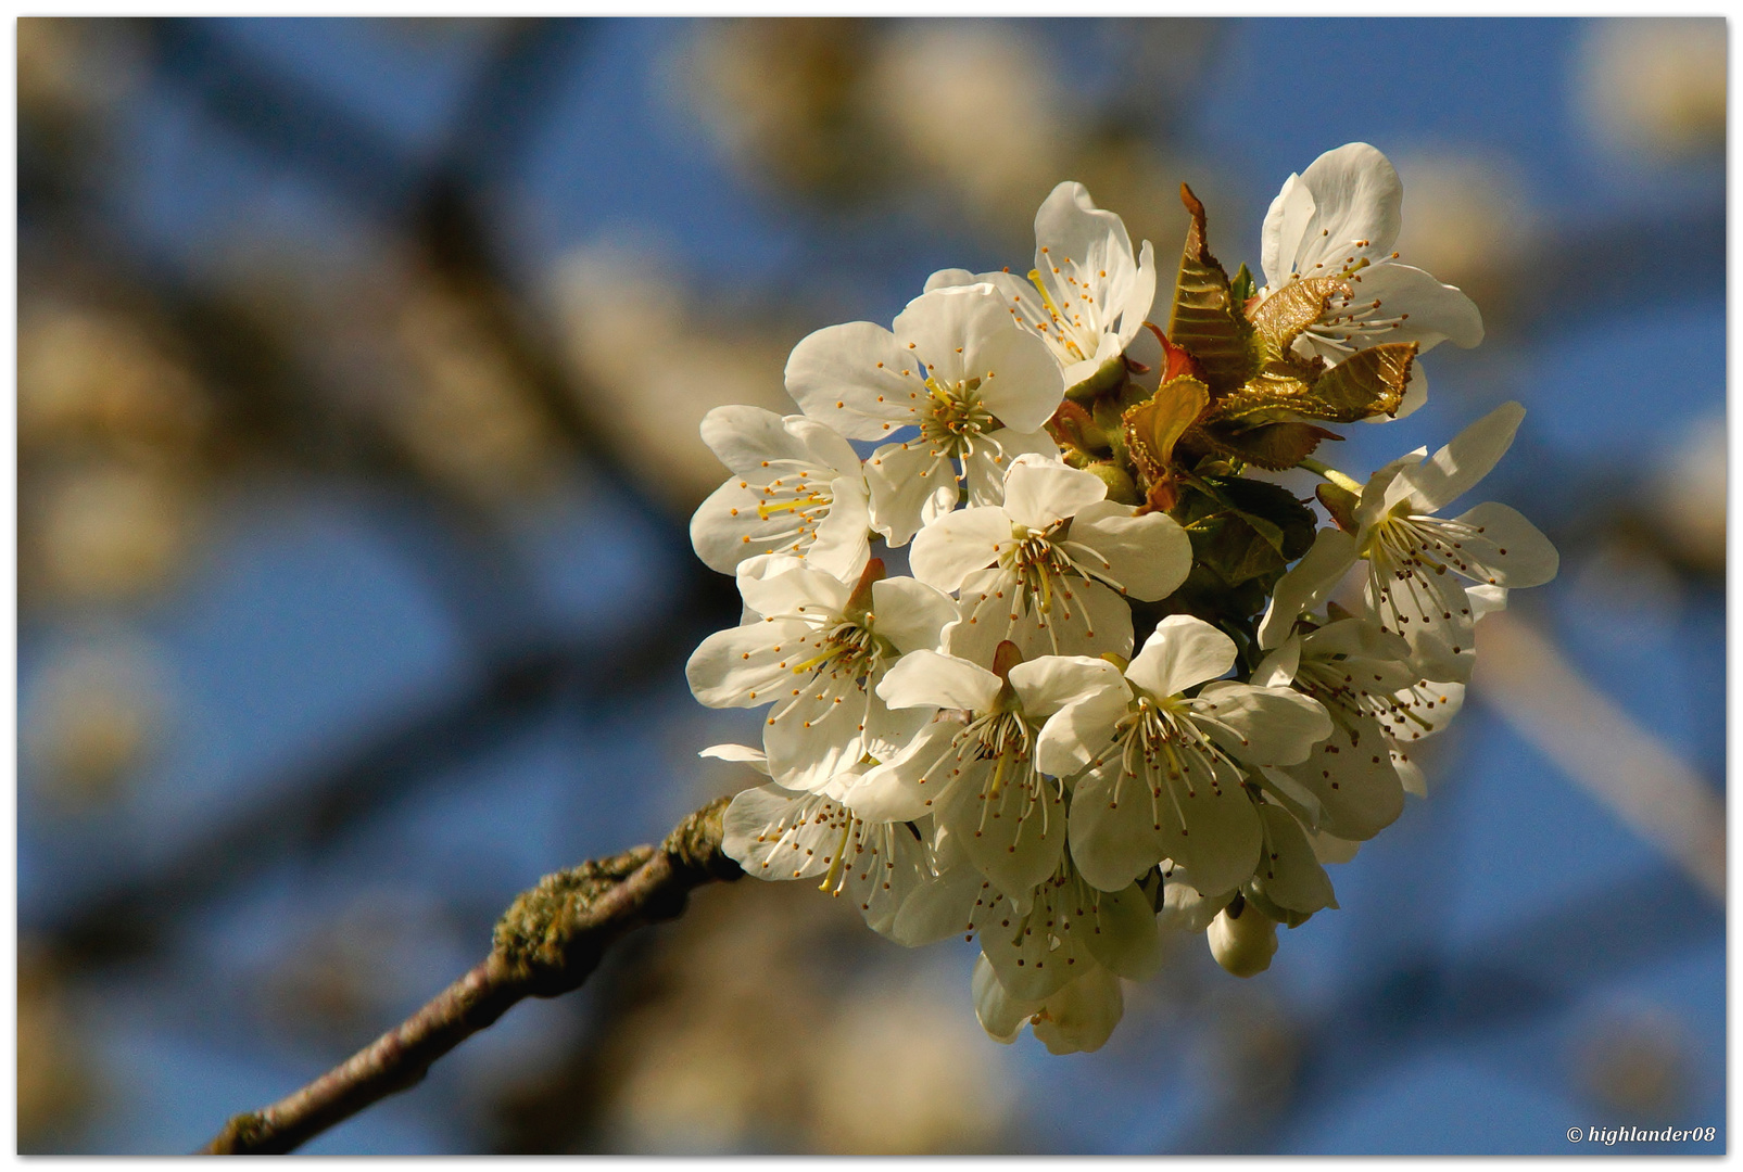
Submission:
[[[1056,456],[1044,425],[1065,395],[1044,341],[1013,326],[988,284],[934,289],[908,303],[894,333],[873,322],[830,326],[786,360],[786,388],[812,420],[849,439],[889,442],[866,461],[872,524],[891,545],[969,502],[999,500],[1021,453]]]

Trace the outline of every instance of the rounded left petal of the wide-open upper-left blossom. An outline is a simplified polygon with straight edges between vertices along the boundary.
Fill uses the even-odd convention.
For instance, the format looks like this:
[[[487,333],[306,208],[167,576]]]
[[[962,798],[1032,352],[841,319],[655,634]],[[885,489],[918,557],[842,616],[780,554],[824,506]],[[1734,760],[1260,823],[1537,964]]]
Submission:
[[[922,364],[873,322],[828,326],[786,360],[786,394],[847,439],[882,439],[913,421],[927,395]]]

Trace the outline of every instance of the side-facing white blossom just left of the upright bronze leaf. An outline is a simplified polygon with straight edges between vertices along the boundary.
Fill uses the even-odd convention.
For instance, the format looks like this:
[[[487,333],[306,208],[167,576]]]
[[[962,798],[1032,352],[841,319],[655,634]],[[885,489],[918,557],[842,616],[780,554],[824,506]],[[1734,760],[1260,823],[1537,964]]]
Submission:
[[[1156,259],[1145,240],[1136,258],[1126,225],[1089,199],[1082,183],[1060,183],[1035,212],[1035,268],[1028,280],[1009,272],[945,268],[927,289],[987,282],[1023,329],[1048,343],[1065,387],[1119,360],[1143,327],[1156,300]]]

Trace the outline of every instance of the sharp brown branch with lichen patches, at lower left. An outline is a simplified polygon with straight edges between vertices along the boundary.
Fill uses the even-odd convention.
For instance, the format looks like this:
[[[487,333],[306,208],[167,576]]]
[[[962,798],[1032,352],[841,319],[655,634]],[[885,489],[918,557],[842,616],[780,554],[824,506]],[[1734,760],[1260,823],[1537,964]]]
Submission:
[[[666,841],[547,874],[497,921],[495,947],[404,1024],[296,1094],[234,1116],[202,1155],[293,1151],[378,1099],[424,1080],[436,1059],[485,1029],[521,998],[579,989],[626,932],[683,913],[692,888],[737,879],[720,852],[718,798],[680,822]]]

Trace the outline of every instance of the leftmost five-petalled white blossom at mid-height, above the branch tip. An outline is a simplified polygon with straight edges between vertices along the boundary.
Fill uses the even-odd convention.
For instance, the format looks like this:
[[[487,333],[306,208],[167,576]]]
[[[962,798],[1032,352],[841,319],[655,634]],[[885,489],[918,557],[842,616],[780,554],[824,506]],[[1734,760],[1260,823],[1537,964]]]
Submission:
[[[795,557],[751,559],[737,575],[749,622],[711,634],[685,667],[708,707],[774,705],[763,745],[788,789],[816,791],[865,756],[894,756],[929,716],[892,712],[877,684],[901,653],[936,648],[955,606],[882,575],[872,559],[849,587]]]

